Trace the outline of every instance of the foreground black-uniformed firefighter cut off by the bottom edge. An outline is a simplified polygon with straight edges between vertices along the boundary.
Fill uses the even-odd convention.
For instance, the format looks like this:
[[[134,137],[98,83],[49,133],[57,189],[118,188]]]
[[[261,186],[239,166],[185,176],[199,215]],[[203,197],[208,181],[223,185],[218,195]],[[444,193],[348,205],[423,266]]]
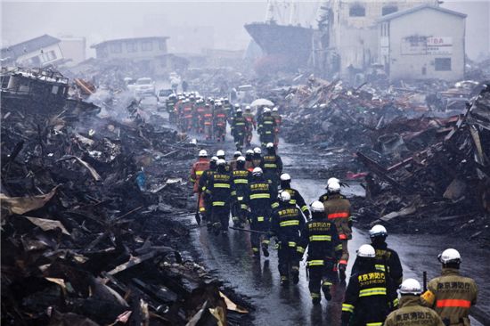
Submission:
[[[396,293],[386,273],[376,270],[376,252],[364,244],[357,250],[357,273],[351,275],[342,304],[342,326],[379,325],[385,321]]]

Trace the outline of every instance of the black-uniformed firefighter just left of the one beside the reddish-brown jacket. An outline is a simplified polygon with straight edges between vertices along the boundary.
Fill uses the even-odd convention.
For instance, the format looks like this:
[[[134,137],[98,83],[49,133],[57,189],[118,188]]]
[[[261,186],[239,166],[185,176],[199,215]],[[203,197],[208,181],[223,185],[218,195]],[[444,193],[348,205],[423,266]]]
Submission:
[[[281,285],[288,285],[290,276],[294,284],[299,281],[298,243],[300,231],[305,225],[305,217],[295,204],[291,203],[289,192],[280,192],[279,207],[274,209],[271,218],[271,235],[277,237],[277,257]]]

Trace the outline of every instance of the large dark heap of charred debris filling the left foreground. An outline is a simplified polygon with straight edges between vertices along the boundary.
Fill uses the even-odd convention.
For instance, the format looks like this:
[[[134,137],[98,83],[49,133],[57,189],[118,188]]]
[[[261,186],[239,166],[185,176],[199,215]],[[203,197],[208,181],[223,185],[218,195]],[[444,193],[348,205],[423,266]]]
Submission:
[[[249,323],[249,306],[182,251],[195,144],[15,103],[1,123],[2,324]]]

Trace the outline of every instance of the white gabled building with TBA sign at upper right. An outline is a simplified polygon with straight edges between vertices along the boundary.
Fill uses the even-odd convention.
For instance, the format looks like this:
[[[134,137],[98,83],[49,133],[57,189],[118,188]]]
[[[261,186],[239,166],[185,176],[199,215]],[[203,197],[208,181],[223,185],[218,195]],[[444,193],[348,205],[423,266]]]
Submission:
[[[390,80],[464,77],[466,14],[429,4],[382,17],[380,63]]]

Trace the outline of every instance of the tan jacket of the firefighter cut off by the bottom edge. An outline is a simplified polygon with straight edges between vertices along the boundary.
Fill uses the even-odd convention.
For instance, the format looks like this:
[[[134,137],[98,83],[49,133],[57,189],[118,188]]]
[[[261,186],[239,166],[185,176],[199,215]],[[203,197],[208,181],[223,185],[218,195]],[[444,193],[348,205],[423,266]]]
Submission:
[[[421,306],[421,297],[400,298],[400,306],[385,321],[385,326],[444,326],[441,317],[432,309]]]

